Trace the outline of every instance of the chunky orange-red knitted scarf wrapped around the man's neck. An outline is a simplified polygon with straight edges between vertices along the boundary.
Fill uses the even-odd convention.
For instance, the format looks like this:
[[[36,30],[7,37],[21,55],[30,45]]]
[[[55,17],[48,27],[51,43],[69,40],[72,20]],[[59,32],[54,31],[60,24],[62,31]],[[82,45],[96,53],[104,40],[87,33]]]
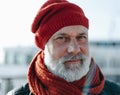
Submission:
[[[43,52],[38,53],[28,70],[28,83],[34,95],[83,95],[83,93],[94,95],[102,91],[104,76],[93,60],[85,77],[67,82],[49,72],[43,59]]]

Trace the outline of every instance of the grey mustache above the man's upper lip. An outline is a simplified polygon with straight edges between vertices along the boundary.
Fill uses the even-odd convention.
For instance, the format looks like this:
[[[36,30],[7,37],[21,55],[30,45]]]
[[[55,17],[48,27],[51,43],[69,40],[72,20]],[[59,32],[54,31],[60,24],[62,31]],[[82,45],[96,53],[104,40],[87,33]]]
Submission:
[[[65,61],[70,61],[70,60],[85,60],[86,58],[87,56],[79,53],[77,55],[73,55],[73,54],[65,55],[60,60],[62,60],[62,62],[65,62]]]

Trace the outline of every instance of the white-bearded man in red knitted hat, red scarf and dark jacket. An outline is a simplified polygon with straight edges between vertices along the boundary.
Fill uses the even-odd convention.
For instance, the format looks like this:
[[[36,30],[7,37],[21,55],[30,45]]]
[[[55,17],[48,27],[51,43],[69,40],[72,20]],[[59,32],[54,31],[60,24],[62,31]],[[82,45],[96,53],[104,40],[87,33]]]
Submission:
[[[120,95],[120,86],[105,80],[90,56],[88,29],[79,6],[66,0],[43,4],[32,24],[41,51],[30,64],[28,83],[8,95]]]

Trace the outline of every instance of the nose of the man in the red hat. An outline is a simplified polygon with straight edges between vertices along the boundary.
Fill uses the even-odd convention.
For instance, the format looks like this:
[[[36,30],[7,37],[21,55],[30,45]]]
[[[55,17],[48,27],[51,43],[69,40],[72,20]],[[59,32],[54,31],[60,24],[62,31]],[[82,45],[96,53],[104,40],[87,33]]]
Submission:
[[[70,43],[68,44],[68,53],[80,53],[80,45],[78,44],[77,40],[73,39],[70,41]]]

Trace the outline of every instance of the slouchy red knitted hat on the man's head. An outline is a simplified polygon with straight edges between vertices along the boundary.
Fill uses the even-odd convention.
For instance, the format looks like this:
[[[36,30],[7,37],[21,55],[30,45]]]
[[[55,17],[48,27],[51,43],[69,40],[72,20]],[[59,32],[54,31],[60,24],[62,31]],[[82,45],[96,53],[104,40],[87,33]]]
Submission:
[[[70,25],[83,25],[89,28],[89,21],[83,10],[66,0],[48,0],[40,8],[32,24],[36,45],[44,49],[55,32]]]

